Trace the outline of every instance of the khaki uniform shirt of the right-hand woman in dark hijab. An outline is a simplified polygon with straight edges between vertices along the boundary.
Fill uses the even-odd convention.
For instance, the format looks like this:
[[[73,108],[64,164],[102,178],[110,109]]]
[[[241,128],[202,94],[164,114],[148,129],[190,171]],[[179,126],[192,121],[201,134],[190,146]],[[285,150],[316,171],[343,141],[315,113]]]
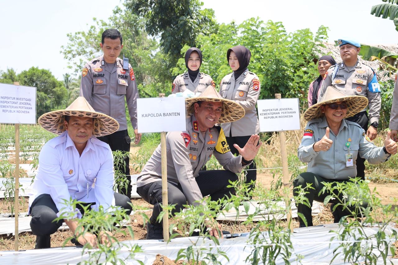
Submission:
[[[246,69],[236,80],[234,72],[227,74],[221,80],[220,95],[225,99],[237,101],[246,111],[242,119],[221,124],[227,137],[247,136],[260,132],[256,111],[256,103],[260,95],[260,81],[256,74]]]

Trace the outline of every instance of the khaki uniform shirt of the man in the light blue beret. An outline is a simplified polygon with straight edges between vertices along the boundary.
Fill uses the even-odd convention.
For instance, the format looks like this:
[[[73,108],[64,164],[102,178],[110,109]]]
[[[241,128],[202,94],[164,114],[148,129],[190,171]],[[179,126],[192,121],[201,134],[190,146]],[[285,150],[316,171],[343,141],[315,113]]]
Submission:
[[[375,121],[378,123],[381,109],[381,90],[376,74],[371,67],[359,61],[357,61],[352,70],[349,70],[344,62],[330,66],[324,76],[318,102],[328,86],[337,88],[345,95],[363,95],[367,97],[369,100],[370,123]]]

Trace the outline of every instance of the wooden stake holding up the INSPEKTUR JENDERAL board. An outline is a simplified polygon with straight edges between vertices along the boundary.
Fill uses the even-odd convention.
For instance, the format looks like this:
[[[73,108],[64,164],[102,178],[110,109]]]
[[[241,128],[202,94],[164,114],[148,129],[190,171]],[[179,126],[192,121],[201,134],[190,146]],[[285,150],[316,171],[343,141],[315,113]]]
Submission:
[[[275,94],[275,99],[281,99],[281,94]],[[287,167],[287,151],[286,151],[286,136],[284,131],[279,131],[279,136],[281,140],[281,156],[282,156],[282,171],[283,171],[283,190],[285,191],[285,204],[287,212],[287,223],[289,224],[289,229],[293,232],[292,224],[292,210],[289,207],[289,168]]]

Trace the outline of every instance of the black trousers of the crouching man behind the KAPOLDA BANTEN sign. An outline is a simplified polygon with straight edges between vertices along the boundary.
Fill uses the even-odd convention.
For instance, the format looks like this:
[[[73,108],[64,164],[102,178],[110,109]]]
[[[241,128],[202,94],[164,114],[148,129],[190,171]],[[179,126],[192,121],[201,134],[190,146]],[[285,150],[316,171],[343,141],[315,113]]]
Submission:
[[[227,186],[229,185],[229,180],[237,181],[238,176],[228,170],[207,170],[199,171],[199,176],[195,180],[203,197],[210,195],[212,201],[217,201],[224,197],[229,198],[230,194],[235,194],[235,189],[227,188]],[[168,182],[167,191],[169,204],[176,204],[176,208],[172,211],[172,214],[175,215],[181,211],[183,205],[187,204],[187,199],[180,184],[176,185]],[[162,204],[162,181],[137,187],[137,193],[146,202],[154,205],[150,222],[155,224],[156,218],[158,218],[159,213],[162,211],[162,207],[160,207]]]

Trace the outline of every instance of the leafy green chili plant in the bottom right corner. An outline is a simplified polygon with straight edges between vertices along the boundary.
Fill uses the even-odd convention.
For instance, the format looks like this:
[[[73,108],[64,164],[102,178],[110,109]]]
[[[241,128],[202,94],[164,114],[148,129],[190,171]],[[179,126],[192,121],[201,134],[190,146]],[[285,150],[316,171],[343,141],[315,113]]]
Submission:
[[[368,183],[369,181],[361,181],[359,178],[323,183],[321,193],[330,194],[325,198],[324,204],[333,202],[333,210],[341,207],[347,212],[347,216],[352,217],[347,220],[341,218],[339,229],[333,231],[336,236],[331,240],[339,240],[341,243],[334,249],[332,261],[343,253],[344,261],[352,264],[379,264],[380,258],[386,264],[388,252],[394,253],[392,243],[397,240],[397,232],[392,230],[389,234],[386,228],[389,222],[398,217],[398,209],[391,204],[383,205],[376,188],[371,192]],[[396,202],[397,199],[395,204]],[[377,232],[366,233],[369,226],[377,228]]]

